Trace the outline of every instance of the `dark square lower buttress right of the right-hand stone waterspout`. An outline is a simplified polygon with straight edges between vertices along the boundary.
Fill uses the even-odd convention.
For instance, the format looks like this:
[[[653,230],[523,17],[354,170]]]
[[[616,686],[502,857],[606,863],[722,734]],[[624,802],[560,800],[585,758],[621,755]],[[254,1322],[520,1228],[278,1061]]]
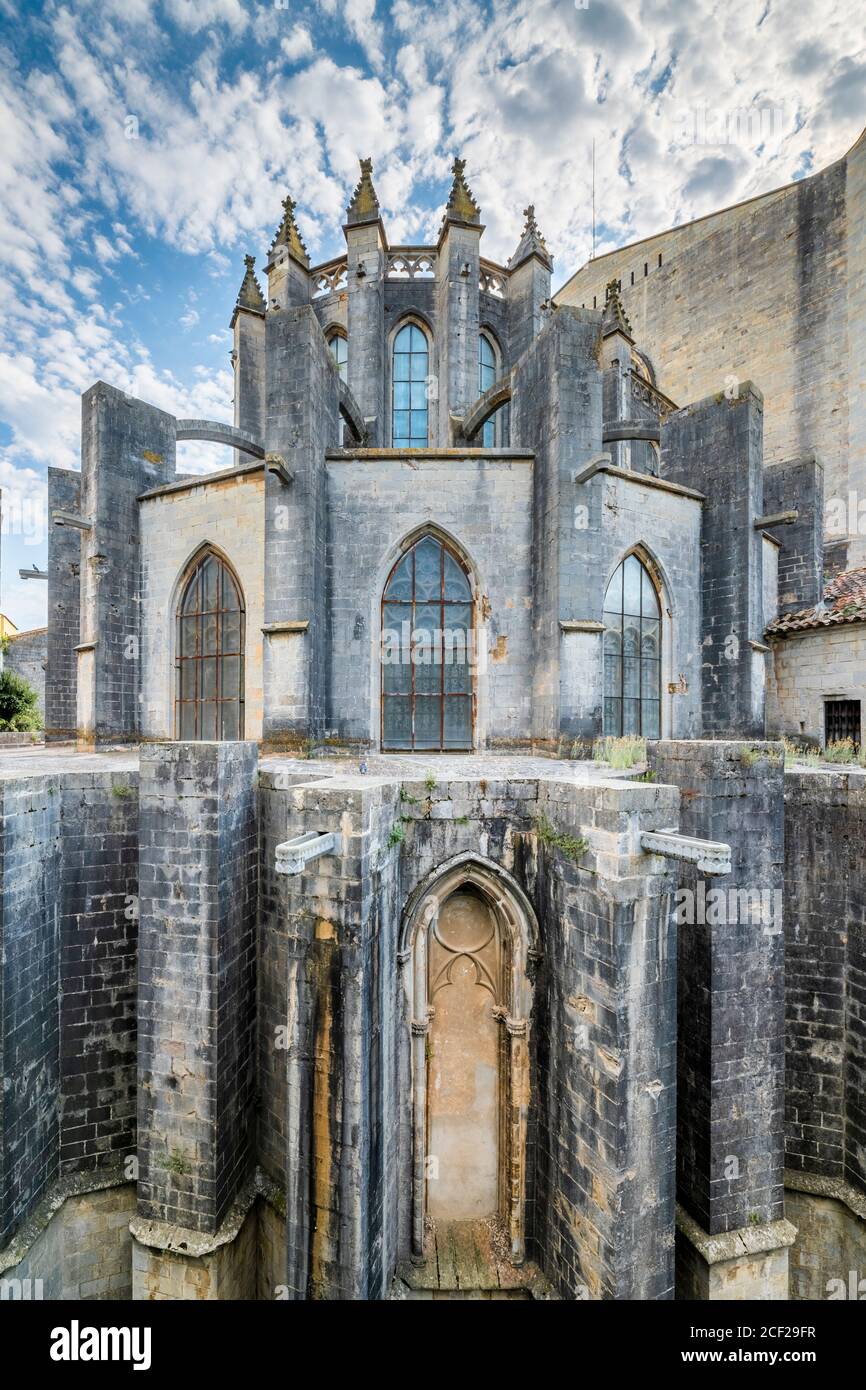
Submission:
[[[680,787],[680,830],[731,847],[730,874],[683,865],[677,927],[677,1188],[714,1236],[783,1216],[781,746],[648,752],[657,778]]]

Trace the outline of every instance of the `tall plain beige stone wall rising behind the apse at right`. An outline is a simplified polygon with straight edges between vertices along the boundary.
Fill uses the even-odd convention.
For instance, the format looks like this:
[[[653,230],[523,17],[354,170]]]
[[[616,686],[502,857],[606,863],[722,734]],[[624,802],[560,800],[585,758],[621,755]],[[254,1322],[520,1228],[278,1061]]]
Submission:
[[[809,179],[599,256],[557,302],[601,307],[614,277],[637,345],[678,404],[730,377],[753,381],[765,460],[815,453],[827,498],[851,486],[866,500],[863,136]],[[851,566],[866,563],[862,530]]]

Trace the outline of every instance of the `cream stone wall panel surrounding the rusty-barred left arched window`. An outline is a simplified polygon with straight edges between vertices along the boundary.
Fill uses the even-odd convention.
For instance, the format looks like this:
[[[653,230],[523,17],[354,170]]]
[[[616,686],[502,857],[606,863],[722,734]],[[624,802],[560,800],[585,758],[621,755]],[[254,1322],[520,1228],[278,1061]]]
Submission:
[[[264,471],[150,498],[142,527],[142,733],[174,738],[178,582],[204,543],[231,563],[246,603],[246,738],[261,738],[264,623]]]

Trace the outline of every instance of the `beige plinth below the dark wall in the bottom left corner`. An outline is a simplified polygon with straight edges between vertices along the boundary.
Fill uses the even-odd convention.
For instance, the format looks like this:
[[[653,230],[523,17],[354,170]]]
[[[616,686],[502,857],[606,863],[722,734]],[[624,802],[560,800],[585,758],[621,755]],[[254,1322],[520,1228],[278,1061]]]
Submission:
[[[26,1254],[17,1264],[0,1269],[0,1282],[32,1280],[33,1298],[131,1298],[129,1220],[133,1212],[132,1183],[67,1197],[36,1232]],[[35,1229],[38,1225],[36,1215]],[[40,1287],[36,1280],[42,1282]]]

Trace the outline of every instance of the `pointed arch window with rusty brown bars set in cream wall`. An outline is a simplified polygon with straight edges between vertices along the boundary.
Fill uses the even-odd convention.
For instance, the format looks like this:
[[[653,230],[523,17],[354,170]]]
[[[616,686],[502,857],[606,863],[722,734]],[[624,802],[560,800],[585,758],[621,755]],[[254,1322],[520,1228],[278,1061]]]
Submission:
[[[207,550],[188,575],[177,612],[178,738],[243,738],[245,620],[238,581]]]

